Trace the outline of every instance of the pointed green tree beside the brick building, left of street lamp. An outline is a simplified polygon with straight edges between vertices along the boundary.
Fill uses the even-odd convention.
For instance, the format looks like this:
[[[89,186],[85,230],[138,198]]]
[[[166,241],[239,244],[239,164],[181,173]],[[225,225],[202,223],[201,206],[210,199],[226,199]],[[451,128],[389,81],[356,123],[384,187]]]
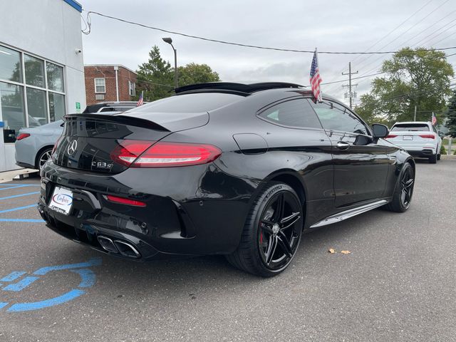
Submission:
[[[149,60],[142,63],[136,72],[138,73],[137,98],[142,91],[144,91],[145,101],[155,101],[171,95],[170,90],[174,88],[173,69],[170,62],[160,56],[158,46],[152,47]]]

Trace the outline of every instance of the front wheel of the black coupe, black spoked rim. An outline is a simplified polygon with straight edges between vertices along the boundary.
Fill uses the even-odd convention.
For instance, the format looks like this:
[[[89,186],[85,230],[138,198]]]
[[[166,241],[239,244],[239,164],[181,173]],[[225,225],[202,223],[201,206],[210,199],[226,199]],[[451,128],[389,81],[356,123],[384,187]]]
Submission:
[[[405,212],[410,207],[415,185],[415,172],[410,163],[405,163],[396,182],[393,200],[385,205],[391,212]]]

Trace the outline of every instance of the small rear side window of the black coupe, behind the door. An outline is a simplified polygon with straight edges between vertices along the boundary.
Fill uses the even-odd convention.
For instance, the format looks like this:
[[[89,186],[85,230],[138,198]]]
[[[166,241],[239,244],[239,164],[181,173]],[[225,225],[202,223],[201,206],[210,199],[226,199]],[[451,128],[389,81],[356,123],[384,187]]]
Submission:
[[[321,124],[316,117],[309,101],[304,98],[289,100],[274,105],[259,114],[270,123],[291,126],[296,128],[320,128]]]

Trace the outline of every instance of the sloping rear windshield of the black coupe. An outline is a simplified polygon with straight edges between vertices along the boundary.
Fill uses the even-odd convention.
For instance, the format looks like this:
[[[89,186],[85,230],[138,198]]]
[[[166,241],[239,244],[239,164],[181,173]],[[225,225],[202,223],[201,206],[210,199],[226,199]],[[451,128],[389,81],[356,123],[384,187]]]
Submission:
[[[175,95],[157,100],[147,105],[130,110],[130,113],[203,113],[224,105],[237,102],[244,98],[241,95],[225,93],[195,93]]]

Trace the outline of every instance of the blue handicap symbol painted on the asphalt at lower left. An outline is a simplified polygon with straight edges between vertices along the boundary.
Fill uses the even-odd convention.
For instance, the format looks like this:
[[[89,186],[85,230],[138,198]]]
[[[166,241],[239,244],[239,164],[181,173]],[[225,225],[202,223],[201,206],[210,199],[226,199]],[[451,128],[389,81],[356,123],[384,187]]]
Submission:
[[[51,271],[61,271],[61,270],[70,270],[81,276],[81,282],[76,286],[76,289],[71,289],[70,291],[56,296],[50,299],[45,299],[43,301],[31,301],[24,303],[6,303],[1,301],[1,292],[0,292],[0,310],[6,309],[6,311],[31,311],[47,308],[49,306],[55,306],[58,304],[66,303],[71,301],[78,296],[81,296],[86,293],[84,291],[88,287],[95,284],[95,274],[88,267],[100,266],[101,258],[90,259],[87,262],[80,264],[65,264],[58,266],[47,266],[37,269],[31,275],[25,276],[27,272],[25,271],[12,271],[7,276],[4,276],[0,279],[0,289],[2,291],[22,291],[30,284],[33,284],[38,279],[41,279],[41,276],[46,276]]]

